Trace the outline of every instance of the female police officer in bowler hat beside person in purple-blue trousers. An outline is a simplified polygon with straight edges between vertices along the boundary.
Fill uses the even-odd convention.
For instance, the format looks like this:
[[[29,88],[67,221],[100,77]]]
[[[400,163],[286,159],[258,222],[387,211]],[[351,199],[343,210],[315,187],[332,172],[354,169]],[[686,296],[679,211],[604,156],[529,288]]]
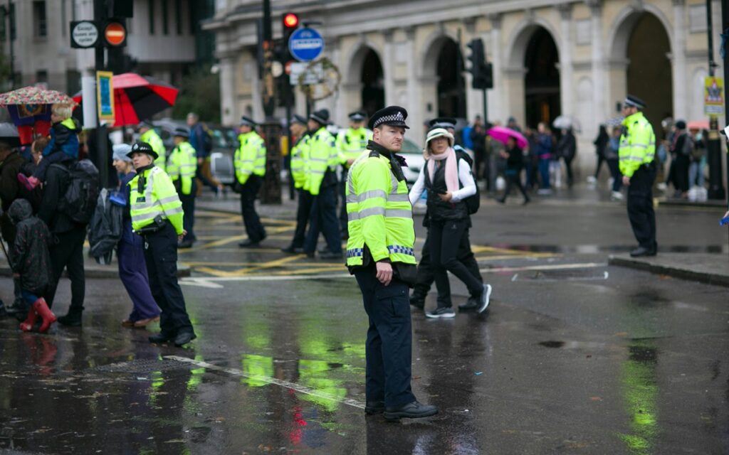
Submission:
[[[162,309],[161,331],[149,341],[173,341],[179,347],[195,339],[177,282],[177,242],[187,234],[182,202],[169,175],[155,166],[157,152],[152,146],[134,143],[127,156],[136,169],[136,177],[128,183],[132,229],[144,238],[149,288]]]

